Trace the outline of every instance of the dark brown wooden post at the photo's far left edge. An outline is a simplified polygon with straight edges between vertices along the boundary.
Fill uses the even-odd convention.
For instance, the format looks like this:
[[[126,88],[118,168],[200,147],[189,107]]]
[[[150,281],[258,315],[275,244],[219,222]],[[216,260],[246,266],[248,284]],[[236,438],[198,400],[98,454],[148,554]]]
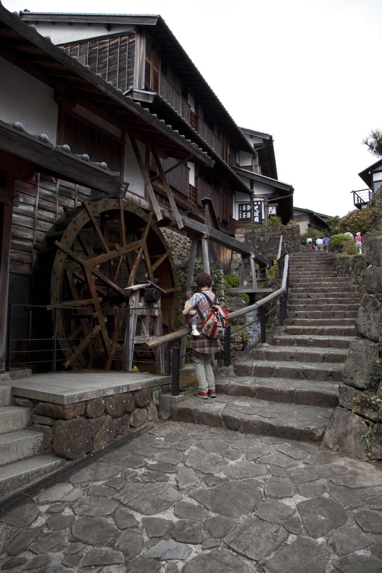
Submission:
[[[5,186],[6,200],[0,203],[0,372],[5,372],[5,358],[7,348],[9,259],[11,248],[14,190],[14,174],[11,171],[7,171]]]

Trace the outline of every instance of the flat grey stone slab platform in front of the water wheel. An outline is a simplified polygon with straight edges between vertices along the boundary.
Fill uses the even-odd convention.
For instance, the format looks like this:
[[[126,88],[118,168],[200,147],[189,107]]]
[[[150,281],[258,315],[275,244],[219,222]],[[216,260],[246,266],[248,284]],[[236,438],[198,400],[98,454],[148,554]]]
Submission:
[[[0,380],[0,384],[5,383],[9,385],[8,380]],[[160,374],[84,370],[33,374],[12,379],[11,386],[15,398],[68,405],[169,383],[171,379]]]

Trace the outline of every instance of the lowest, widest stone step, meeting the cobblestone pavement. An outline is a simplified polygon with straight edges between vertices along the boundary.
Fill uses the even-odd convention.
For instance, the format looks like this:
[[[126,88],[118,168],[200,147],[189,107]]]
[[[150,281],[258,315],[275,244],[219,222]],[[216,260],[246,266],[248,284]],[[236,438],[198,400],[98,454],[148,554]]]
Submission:
[[[277,403],[256,398],[218,395],[212,400],[189,398],[172,406],[176,422],[229,427],[241,433],[319,442],[332,409]]]

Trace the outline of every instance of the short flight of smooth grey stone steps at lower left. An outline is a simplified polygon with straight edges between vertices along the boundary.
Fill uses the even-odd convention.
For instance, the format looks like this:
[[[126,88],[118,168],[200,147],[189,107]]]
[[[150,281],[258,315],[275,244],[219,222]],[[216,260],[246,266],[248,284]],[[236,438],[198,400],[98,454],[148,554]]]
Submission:
[[[62,465],[44,455],[44,434],[31,426],[30,409],[14,406],[12,386],[0,385],[0,498]]]

